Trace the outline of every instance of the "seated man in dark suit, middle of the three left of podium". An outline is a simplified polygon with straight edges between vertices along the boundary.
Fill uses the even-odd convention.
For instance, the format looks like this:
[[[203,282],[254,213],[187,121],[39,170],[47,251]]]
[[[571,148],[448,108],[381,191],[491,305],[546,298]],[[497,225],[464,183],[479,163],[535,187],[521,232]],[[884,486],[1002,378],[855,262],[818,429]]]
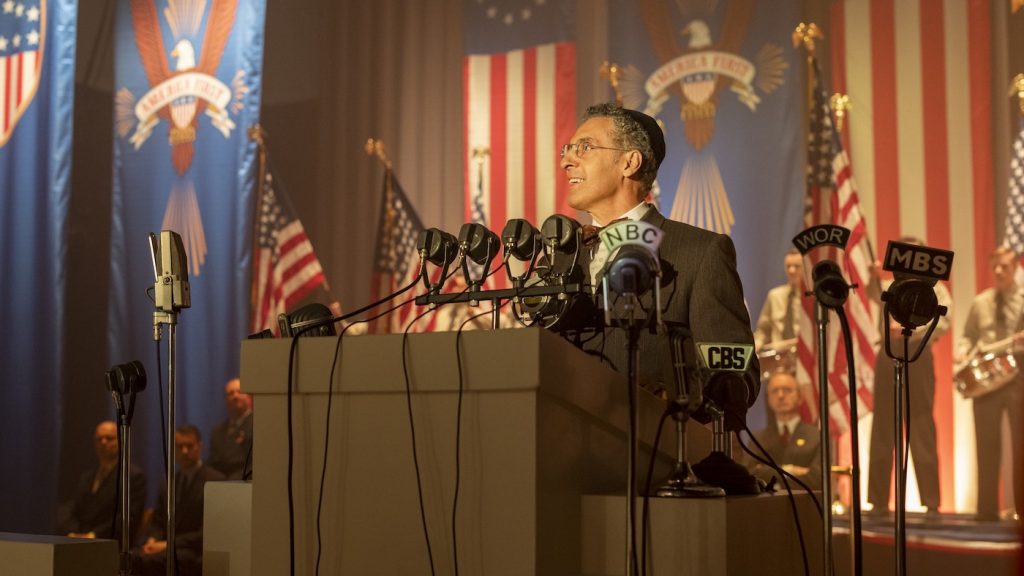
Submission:
[[[199,428],[182,424],[174,430],[174,542],[178,576],[203,573],[203,495],[207,482],[224,480],[224,475],[203,465],[203,440]],[[143,575],[166,574],[167,488],[160,491],[148,538],[139,549],[139,571]]]

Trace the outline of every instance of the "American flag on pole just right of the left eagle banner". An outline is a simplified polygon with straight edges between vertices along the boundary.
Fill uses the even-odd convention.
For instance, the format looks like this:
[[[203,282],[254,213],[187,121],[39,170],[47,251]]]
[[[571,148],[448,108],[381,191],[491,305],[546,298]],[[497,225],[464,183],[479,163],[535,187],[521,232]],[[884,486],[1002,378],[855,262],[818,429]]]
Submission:
[[[251,331],[276,331],[278,315],[293,307],[327,278],[313,245],[288,199],[267,170],[256,217]]]

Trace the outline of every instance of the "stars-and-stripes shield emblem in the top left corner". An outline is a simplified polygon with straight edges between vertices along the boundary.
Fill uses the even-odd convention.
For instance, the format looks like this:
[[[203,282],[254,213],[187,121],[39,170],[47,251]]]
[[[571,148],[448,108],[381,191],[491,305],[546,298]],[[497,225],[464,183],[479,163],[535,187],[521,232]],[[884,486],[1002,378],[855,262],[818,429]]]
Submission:
[[[38,84],[45,7],[38,1],[0,0],[0,147],[9,139]]]

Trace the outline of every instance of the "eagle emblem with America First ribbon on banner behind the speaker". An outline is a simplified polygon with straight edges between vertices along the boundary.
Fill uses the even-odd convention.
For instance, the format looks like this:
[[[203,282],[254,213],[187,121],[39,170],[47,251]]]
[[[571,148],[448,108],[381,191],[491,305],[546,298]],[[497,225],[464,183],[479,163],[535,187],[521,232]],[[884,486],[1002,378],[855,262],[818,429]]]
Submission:
[[[731,93],[751,112],[761,94],[783,83],[788,68],[782,48],[766,43],[749,58],[739,53],[753,15],[754,0],[733,0],[725,10],[719,38],[706,19],[692,17],[678,33],[667,0],[642,0],[644,26],[662,65],[645,75],[627,67],[620,79],[623,105],[657,117],[673,96],[686,140],[697,152],[683,162],[671,217],[729,234],[735,222],[718,162],[707,150],[715,136],[715,118],[723,95]],[[682,9],[682,8],[681,8]],[[683,11],[686,17],[687,11]],[[685,47],[681,46],[685,39]]]

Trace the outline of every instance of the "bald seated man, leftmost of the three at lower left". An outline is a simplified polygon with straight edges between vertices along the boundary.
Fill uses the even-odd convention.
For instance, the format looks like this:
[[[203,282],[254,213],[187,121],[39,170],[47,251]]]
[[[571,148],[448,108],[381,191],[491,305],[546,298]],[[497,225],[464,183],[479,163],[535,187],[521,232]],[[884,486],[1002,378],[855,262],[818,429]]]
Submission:
[[[121,511],[118,492],[118,426],[110,420],[99,422],[93,435],[96,465],[82,474],[70,503],[67,518],[58,522],[57,533],[77,538],[121,538]],[[129,541],[142,520],[145,504],[145,475],[131,466],[131,516]]]

